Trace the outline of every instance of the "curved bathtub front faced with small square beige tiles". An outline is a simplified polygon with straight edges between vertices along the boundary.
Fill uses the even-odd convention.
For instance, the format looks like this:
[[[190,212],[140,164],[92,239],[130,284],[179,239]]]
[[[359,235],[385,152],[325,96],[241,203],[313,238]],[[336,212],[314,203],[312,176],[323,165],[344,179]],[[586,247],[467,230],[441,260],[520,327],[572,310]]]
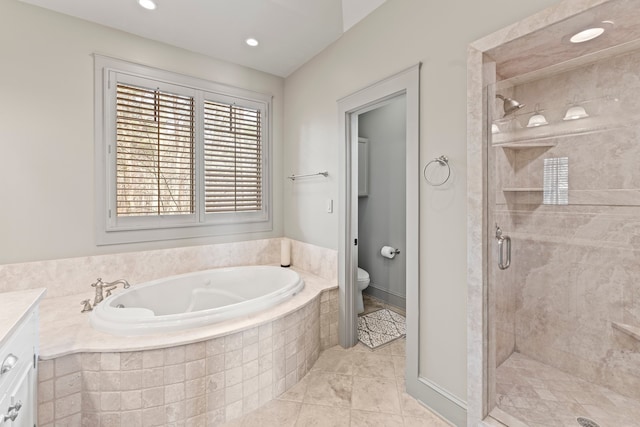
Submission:
[[[40,361],[38,425],[188,427],[238,418],[295,385],[337,342],[325,330],[337,324],[334,304],[337,289],[284,318],[205,342]]]

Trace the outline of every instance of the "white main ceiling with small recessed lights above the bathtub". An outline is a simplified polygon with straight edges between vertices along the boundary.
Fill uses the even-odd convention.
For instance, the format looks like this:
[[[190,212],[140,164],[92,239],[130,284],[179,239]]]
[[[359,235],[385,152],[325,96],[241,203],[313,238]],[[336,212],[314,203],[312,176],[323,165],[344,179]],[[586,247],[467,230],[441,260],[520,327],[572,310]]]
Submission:
[[[21,1],[286,77],[385,0]]]

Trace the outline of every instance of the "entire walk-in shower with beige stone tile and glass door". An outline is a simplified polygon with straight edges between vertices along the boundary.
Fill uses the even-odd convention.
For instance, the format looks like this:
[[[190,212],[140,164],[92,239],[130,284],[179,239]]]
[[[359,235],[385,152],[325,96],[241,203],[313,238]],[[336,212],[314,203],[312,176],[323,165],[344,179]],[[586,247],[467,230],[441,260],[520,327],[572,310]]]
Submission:
[[[601,3],[485,57],[484,405],[509,426],[640,425],[640,11]]]

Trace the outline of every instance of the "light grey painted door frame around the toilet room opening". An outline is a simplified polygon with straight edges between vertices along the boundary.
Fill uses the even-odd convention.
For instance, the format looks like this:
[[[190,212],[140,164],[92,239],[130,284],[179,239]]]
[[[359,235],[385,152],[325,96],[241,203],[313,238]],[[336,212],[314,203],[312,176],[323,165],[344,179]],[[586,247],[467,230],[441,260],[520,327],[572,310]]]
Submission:
[[[416,64],[384,80],[338,100],[340,130],[338,244],[339,321],[338,335],[342,347],[358,342],[357,313],[354,302],[357,289],[358,248],[358,115],[371,111],[389,100],[404,95],[406,102],[406,288],[407,288],[407,390],[418,384],[419,322],[419,218],[420,218],[420,65]],[[375,171],[372,171],[375,173]]]

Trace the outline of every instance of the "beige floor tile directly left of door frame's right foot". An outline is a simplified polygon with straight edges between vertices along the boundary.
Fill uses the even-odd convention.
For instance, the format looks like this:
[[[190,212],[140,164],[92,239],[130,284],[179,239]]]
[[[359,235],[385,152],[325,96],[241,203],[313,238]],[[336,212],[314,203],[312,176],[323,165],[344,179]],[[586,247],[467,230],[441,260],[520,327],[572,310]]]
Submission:
[[[353,409],[401,414],[395,379],[353,377]]]

